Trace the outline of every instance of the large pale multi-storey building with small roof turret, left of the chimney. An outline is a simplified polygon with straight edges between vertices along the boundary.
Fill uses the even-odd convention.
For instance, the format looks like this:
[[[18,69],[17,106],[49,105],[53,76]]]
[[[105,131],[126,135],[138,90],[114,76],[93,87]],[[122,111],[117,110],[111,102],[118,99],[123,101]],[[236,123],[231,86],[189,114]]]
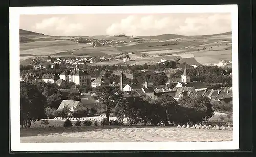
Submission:
[[[76,65],[76,68],[72,71],[62,72],[60,78],[66,82],[74,82],[76,85],[88,86],[91,83],[91,76],[83,70],[80,70],[78,65]]]

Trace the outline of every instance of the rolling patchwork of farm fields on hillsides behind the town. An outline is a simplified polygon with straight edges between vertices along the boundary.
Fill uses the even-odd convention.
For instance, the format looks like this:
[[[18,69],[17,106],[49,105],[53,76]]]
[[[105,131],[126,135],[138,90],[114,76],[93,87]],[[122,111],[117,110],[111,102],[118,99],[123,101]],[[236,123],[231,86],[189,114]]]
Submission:
[[[26,33],[26,32],[25,32]],[[131,61],[124,63],[121,59],[108,62],[99,62],[90,65],[135,65],[159,62],[161,59],[170,59],[175,56],[181,58],[195,58],[194,64],[208,65],[220,60],[232,60],[231,32],[217,35],[180,36],[164,34],[159,36],[143,37],[146,40],[132,37],[92,36],[88,38],[126,41],[116,46],[91,47],[89,44],[79,44],[71,41],[74,37],[48,36],[41,34],[21,34],[27,42],[20,43],[20,60],[34,56],[118,56],[129,53]],[[149,57],[142,57],[143,54]],[[121,55],[122,56],[122,55]],[[120,57],[120,56],[119,56]],[[26,61],[25,61],[26,63]],[[189,63],[190,64],[190,63]]]

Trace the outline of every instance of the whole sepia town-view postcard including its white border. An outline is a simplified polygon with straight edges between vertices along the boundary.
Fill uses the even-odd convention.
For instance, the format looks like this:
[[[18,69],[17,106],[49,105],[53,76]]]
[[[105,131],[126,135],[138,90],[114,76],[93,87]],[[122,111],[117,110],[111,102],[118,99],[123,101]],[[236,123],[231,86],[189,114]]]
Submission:
[[[237,16],[11,7],[11,149],[239,149]]]

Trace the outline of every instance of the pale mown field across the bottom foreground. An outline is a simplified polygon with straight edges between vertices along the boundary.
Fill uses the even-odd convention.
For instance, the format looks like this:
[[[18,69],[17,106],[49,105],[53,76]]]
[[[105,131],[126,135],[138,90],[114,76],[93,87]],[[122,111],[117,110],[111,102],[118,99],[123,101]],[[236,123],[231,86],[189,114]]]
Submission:
[[[232,141],[232,131],[173,127],[90,126],[20,130],[20,142],[204,142]]]

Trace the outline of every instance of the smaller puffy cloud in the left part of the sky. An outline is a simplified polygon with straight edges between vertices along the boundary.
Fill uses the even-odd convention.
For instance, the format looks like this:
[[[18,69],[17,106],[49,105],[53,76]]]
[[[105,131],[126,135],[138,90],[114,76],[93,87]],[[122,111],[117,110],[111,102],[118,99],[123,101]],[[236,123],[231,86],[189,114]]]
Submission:
[[[79,35],[78,33],[85,29],[86,26],[82,23],[72,22],[66,17],[51,17],[37,22],[32,28],[45,34],[69,36]]]

